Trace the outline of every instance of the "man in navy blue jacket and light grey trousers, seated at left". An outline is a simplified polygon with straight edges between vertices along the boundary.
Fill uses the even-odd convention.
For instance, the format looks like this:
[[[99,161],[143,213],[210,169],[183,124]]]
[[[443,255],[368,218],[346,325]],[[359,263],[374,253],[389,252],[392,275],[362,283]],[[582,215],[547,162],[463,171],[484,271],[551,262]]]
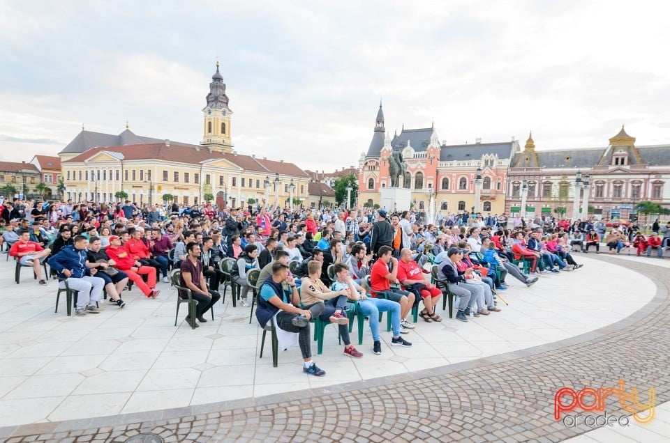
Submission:
[[[72,245],[64,247],[47,261],[59,277],[68,279],[70,289],[79,291],[77,306],[75,307],[77,316],[100,312],[96,302],[103,296],[103,288],[105,287],[105,280],[87,275],[87,272],[89,274],[95,274],[96,272],[96,269],[89,270],[86,266],[86,247],[88,244],[89,240],[86,237],[77,235]],[[59,284],[64,286],[62,282]]]

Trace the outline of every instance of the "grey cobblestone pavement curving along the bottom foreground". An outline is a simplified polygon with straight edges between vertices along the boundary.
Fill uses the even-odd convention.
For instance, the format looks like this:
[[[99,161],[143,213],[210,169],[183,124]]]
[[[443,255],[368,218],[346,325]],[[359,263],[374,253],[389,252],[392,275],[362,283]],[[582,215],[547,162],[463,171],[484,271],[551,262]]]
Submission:
[[[643,402],[650,387],[657,404],[670,400],[670,275],[647,263],[626,266],[657,283],[656,297],[633,316],[572,339],[411,374],[145,414],[147,419],[135,414],[36,423],[0,438],[125,442],[156,433],[165,442],[558,442],[591,429],[553,419],[553,394],[560,387],[616,386],[622,378],[640,389]],[[625,414],[615,398],[608,399],[607,412]]]

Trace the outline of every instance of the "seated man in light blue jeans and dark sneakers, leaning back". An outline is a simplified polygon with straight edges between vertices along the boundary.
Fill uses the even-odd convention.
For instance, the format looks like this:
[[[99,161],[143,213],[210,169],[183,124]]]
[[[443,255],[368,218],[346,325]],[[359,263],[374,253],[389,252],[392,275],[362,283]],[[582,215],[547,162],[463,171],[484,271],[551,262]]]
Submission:
[[[382,248],[383,247],[387,246],[382,246]],[[391,254],[391,248],[387,248],[389,249],[389,254]],[[370,331],[372,332],[373,339],[372,352],[374,352],[376,355],[380,355],[382,353],[382,343],[379,338],[380,312],[386,312],[387,315],[391,316],[391,328],[393,331],[391,345],[405,347],[412,345],[412,343],[406,341],[400,335],[400,304],[382,298],[368,297],[363,287],[357,283],[354,283],[352,278],[349,276],[348,267],[343,265],[343,263],[338,263],[335,265],[335,282],[333,283],[332,289],[348,289],[350,291],[350,299],[358,300],[359,309],[364,316],[370,318]]]

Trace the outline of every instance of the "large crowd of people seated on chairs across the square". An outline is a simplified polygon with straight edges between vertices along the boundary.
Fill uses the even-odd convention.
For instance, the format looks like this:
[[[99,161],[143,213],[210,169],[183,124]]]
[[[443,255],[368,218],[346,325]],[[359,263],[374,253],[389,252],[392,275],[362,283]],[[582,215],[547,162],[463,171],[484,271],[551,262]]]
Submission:
[[[530,287],[541,277],[579,270],[576,251],[600,253],[604,243],[613,254],[633,247],[638,255],[655,250],[662,258],[670,242],[670,223],[647,237],[635,226],[607,232],[597,219],[468,212],[440,214],[433,223],[425,218],[385,208],[289,210],[265,201],[255,208],[215,208],[14,199],[3,202],[0,242],[32,267],[40,285],[47,285],[46,261],[59,284],[67,281],[79,291],[77,316],[99,313],[103,294],[124,308],[121,295],[129,283],[156,298],[161,276],[168,283],[170,269],[180,270],[179,286],[197,302],[196,320],[186,316],[191,327],[207,322],[204,313],[220,299],[221,285],[230,283],[221,264],[232,259],[240,305],[253,304],[255,289],[260,325],[273,321],[281,340],[295,339],[304,373],[316,376],[325,371],[311,358],[313,318],[337,325],[344,355],[361,358],[348,332],[356,306],[370,319],[372,352],[379,355],[380,313],[390,318],[389,344],[410,348],[405,337],[417,326],[412,309],[426,323],[441,322],[436,307],[446,290],[458,300],[455,318],[468,322],[500,313],[498,293],[511,279]],[[434,266],[437,279],[431,278]],[[255,288],[248,279],[252,270],[260,272]]]

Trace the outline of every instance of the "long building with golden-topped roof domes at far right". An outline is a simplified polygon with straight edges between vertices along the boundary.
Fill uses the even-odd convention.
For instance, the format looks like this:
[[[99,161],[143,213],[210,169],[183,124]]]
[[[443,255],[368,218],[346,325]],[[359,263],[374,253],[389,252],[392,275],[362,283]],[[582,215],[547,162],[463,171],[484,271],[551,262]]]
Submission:
[[[579,186],[575,185],[578,173]],[[670,145],[635,146],[624,127],[609,139],[606,148],[535,150],[529,137],[523,152],[512,159],[507,184],[507,213],[583,217],[586,208],[604,219],[628,219],[643,200],[670,207]],[[588,183],[588,185],[587,185]],[[525,185],[525,186],[524,186]],[[522,198],[526,197],[525,211]],[[556,208],[559,208],[556,211]]]

